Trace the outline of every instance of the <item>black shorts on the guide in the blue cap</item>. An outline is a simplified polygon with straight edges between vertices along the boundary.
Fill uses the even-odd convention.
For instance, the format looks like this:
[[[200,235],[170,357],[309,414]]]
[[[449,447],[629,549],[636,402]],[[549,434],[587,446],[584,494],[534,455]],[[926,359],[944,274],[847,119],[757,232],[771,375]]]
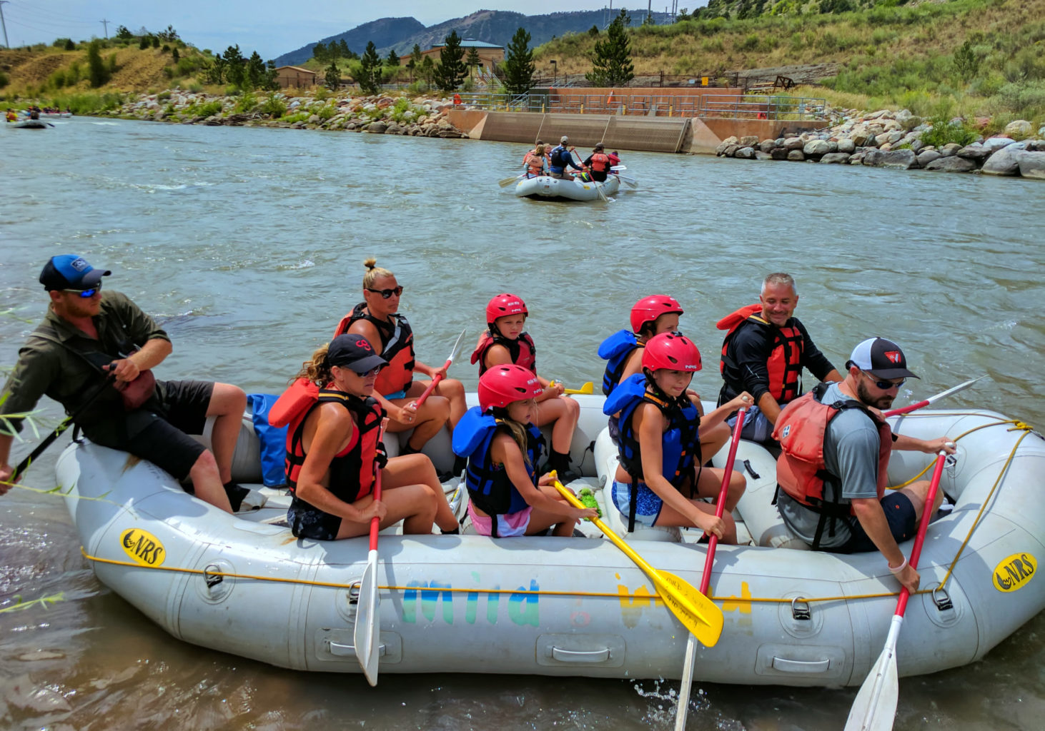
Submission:
[[[118,438],[88,433],[92,442],[148,459],[178,480],[185,480],[206,448],[189,434],[202,434],[213,381],[162,381],[161,398],[125,415]],[[87,430],[85,429],[85,432]]]

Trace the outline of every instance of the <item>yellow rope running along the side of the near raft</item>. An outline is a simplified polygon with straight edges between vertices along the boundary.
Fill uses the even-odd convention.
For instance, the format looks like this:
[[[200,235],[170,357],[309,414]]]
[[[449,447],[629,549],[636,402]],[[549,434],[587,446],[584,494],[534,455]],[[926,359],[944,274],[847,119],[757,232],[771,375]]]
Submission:
[[[979,416],[979,415],[970,415],[970,416]],[[944,575],[944,581],[942,581],[939,583],[939,587],[937,587],[936,590],[943,589],[944,586],[947,584],[948,580],[950,580],[951,574],[954,571],[954,567],[958,563],[958,559],[961,558],[962,551],[966,549],[966,546],[968,545],[970,539],[972,539],[973,533],[976,530],[976,527],[979,525],[980,519],[983,517],[983,512],[986,510],[988,504],[990,504],[990,502],[991,502],[991,498],[994,496],[994,493],[997,490],[998,486],[1001,485],[1002,477],[1005,476],[1005,472],[1008,470],[1008,466],[1013,463],[1013,459],[1016,457],[1016,450],[1019,449],[1020,444],[1023,442],[1023,440],[1026,438],[1026,435],[1028,433],[1030,433],[1030,431],[1032,431],[1032,427],[1029,424],[1026,424],[1025,422],[1017,421],[1015,419],[1008,419],[1008,420],[1004,420],[1004,421],[998,421],[998,422],[993,423],[993,424],[981,424],[980,426],[972,428],[969,431],[966,431],[966,432],[959,434],[958,437],[956,437],[954,439],[954,441],[957,442],[958,440],[960,440],[960,439],[962,439],[962,438],[965,438],[965,437],[967,437],[967,435],[971,434],[972,432],[977,431],[979,429],[982,429],[982,428],[985,428],[985,427],[989,427],[989,426],[1003,426],[1005,424],[1012,424],[1012,426],[1007,429],[1008,431],[1023,431],[1023,434],[1021,434],[1020,439],[1018,439],[1016,441],[1016,444],[1013,446],[1012,451],[1008,453],[1008,457],[1005,459],[1005,464],[1002,466],[1001,471],[998,473],[998,478],[995,480],[994,485],[991,487],[991,491],[988,493],[986,498],[984,498],[982,504],[980,505],[979,513],[976,514],[976,519],[973,521],[972,527],[969,528],[969,533],[966,535],[965,540],[961,542],[961,545],[958,547],[957,552],[954,555],[954,559],[951,561],[951,565],[947,569],[947,573]],[[930,466],[931,466],[931,464],[930,464]],[[926,470],[928,470],[928,467],[926,468]],[[926,470],[923,470],[922,473],[920,473],[919,476],[921,476],[921,474],[924,474]],[[918,476],[915,476],[911,480],[908,480],[908,482],[905,482],[904,485],[908,485],[911,481],[914,481],[914,479],[918,479]],[[903,486],[900,486],[900,487],[903,487]],[[890,489],[895,489],[895,488],[890,488]],[[159,570],[159,571],[176,571],[176,572],[179,572],[179,573],[193,573],[193,574],[199,574],[199,575],[223,576],[223,577],[229,577],[229,579],[247,579],[247,580],[258,581],[258,582],[276,582],[276,583],[282,583],[282,584],[302,584],[302,585],[305,585],[305,586],[319,586],[319,587],[325,587],[325,588],[331,588],[331,589],[351,589],[353,586],[355,586],[354,584],[339,584],[339,583],[335,583],[335,582],[317,582],[317,581],[312,581],[312,580],[308,580],[308,579],[282,579],[282,577],[279,577],[279,576],[260,576],[260,575],[250,574],[250,573],[233,573],[231,571],[208,571],[206,569],[184,568],[184,567],[181,567],[181,566],[144,566],[142,564],[134,563],[134,562],[131,562],[131,561],[117,561],[115,559],[102,559],[102,558],[97,557],[97,556],[91,556],[90,553],[88,553],[84,549],[83,546],[80,546],[79,552],[88,561],[94,561],[94,562],[101,563],[101,564],[112,564],[114,566],[129,566],[131,568],[144,568],[144,569],[152,569],[152,570]],[[475,589],[462,589],[462,588],[456,588],[456,587],[445,587],[444,588],[444,587],[396,586],[396,585],[390,585],[390,586],[378,585],[378,588],[379,589],[385,589],[387,591],[435,591],[435,592],[439,592],[439,593],[441,593],[441,592],[451,592],[451,593],[465,593],[465,594],[473,594],[473,593],[474,594],[478,594],[478,593],[483,593],[483,594],[528,594],[528,595],[536,595],[536,596],[593,596],[593,597],[605,597],[605,598],[616,598],[616,599],[627,598],[627,599],[660,599],[660,600],[663,600],[663,598],[661,598],[661,596],[660,596],[659,593],[653,593],[653,594],[633,594],[633,593],[621,593],[621,592],[612,593],[612,592],[608,592],[608,591],[550,591],[550,590],[547,590],[547,589],[521,589],[521,588],[519,588],[519,589],[479,589],[479,588],[475,588]],[[914,593],[915,594],[928,594],[928,593],[932,593],[932,591],[934,591],[934,590],[933,589],[920,589],[919,591],[916,591]],[[883,597],[887,597],[887,596],[896,596],[899,593],[900,593],[899,591],[885,591],[885,592],[879,592],[879,593],[874,593],[874,594],[850,594],[850,595],[838,595],[838,596],[811,596],[811,597],[805,597],[805,596],[803,596],[803,597],[798,597],[797,600],[805,602],[807,604],[821,603],[821,602],[850,602],[852,599],[877,599],[877,598],[883,598]],[[736,603],[736,604],[742,604],[742,603],[750,603],[750,604],[791,604],[792,602],[796,600],[796,599],[793,599],[793,598],[777,597],[777,596],[743,596],[743,597],[741,597],[741,596],[709,595],[709,598],[711,598],[712,600],[715,600],[715,602],[722,602],[722,603],[730,602],[730,603]]]

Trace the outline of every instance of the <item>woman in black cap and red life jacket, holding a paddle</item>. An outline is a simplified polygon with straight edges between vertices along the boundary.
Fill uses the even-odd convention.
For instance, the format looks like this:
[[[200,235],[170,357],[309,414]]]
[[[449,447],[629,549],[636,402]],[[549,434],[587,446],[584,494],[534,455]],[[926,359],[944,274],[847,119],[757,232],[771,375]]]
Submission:
[[[400,520],[405,534],[429,534],[433,521],[458,533],[432,461],[385,457],[385,409],[371,398],[385,358],[362,335],[339,335],[302,363],[273,404],[270,423],[286,425],[286,480],[294,498],[286,522],[297,538],[333,541]],[[372,495],[381,471],[381,499]]]

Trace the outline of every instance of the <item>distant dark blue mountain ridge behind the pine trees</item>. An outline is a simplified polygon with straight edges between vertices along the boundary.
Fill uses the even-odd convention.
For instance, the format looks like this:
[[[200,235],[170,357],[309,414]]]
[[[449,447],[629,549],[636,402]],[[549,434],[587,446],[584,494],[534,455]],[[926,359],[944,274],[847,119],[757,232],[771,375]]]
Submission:
[[[390,48],[395,48],[400,55],[405,55],[411,51],[416,43],[422,49],[431,48],[443,42],[443,39],[456,30],[461,38],[473,38],[477,41],[495,43],[498,46],[507,46],[512,36],[519,27],[526,28],[530,32],[530,47],[534,48],[542,43],[551,41],[553,37],[561,37],[566,33],[579,33],[587,31],[593,25],[599,28],[605,27],[617,16],[618,9],[613,9],[612,16],[606,9],[601,10],[572,10],[565,13],[551,13],[542,16],[525,16],[521,13],[510,10],[477,10],[464,18],[452,20],[425,27],[414,18],[382,18],[371,23],[365,23],[338,36],[330,36],[323,39],[323,43],[340,41],[345,39],[348,47],[356,53],[362,53],[367,47],[368,41],[373,41],[378,52],[388,54]],[[646,16],[646,8],[630,9],[631,24],[637,26]],[[666,23],[670,21],[670,16],[665,13],[654,13],[654,23]],[[277,66],[286,64],[302,64],[311,57],[315,43],[284,53],[276,58]]]

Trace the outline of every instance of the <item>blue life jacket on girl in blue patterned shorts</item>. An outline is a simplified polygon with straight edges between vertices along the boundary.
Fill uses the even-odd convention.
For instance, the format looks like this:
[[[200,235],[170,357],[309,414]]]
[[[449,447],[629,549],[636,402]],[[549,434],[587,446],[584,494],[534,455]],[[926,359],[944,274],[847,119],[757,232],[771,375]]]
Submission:
[[[613,390],[606,398],[602,410],[612,415],[621,412],[618,455],[621,466],[631,476],[630,514],[628,530],[635,529],[636,484],[643,478],[643,462],[638,448],[638,434],[634,432],[631,417],[642,403],[651,403],[660,409],[668,420],[668,430],[661,443],[663,463],[660,473],[675,488],[681,488],[690,480],[691,493],[696,481],[696,467],[700,458],[700,414],[697,407],[683,395],[674,401],[659,399],[646,393],[646,375],[636,373]]]

